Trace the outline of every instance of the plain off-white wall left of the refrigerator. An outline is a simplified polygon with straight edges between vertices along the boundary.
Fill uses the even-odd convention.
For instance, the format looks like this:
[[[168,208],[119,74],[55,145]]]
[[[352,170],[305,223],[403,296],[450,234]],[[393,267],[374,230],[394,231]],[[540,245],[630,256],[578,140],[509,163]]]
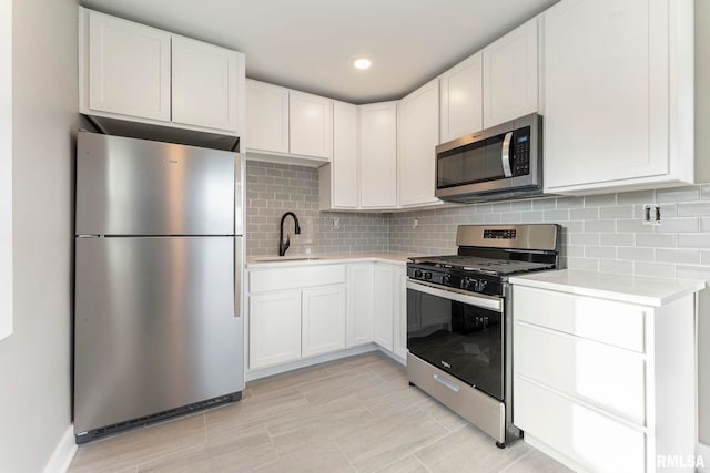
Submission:
[[[71,422],[77,1],[12,8],[14,327],[0,340],[0,471],[37,473]]]

